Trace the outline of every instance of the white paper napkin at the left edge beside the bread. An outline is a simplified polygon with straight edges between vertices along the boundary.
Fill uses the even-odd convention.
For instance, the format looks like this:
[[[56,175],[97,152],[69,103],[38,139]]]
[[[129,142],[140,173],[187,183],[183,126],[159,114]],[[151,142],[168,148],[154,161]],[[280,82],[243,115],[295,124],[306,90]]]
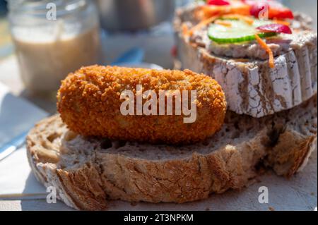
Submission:
[[[0,146],[47,116],[47,112],[12,95],[8,87],[0,83]],[[25,147],[0,161],[0,199],[38,198],[45,193],[31,172]]]

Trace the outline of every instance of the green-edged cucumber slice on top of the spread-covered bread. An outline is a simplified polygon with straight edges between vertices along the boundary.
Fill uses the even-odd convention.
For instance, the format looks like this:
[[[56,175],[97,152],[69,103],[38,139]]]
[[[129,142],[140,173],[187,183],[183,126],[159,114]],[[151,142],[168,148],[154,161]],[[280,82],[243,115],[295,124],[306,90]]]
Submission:
[[[255,34],[259,37],[272,37],[275,32],[259,33],[258,28],[261,25],[271,24],[269,20],[254,20],[253,25],[249,25],[242,20],[226,20],[231,23],[231,27],[223,25],[211,24],[208,28],[208,37],[214,42],[220,44],[249,42],[255,39]]]

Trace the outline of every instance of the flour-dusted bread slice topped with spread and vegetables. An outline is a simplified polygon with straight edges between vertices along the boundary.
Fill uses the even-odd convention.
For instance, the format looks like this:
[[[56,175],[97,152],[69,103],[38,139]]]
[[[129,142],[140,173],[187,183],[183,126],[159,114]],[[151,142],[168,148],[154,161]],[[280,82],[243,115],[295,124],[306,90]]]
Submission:
[[[176,13],[177,58],[182,68],[216,79],[223,87],[228,109],[260,118],[292,109],[317,94],[317,32],[304,30],[310,23],[306,16],[298,16],[294,21],[298,25],[293,27],[301,28],[295,35],[297,43],[275,57],[276,66],[270,68],[268,60],[240,61],[212,54],[209,44],[202,46],[201,41],[184,35],[182,25],[198,23],[194,18],[197,8],[190,5]],[[206,32],[198,32],[201,39],[208,39]]]

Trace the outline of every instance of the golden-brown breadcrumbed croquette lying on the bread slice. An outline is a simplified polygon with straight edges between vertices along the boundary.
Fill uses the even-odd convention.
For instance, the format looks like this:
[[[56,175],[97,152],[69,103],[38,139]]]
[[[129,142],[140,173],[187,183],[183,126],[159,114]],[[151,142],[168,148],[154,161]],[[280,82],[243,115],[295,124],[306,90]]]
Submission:
[[[131,90],[136,98],[136,85],[142,85],[143,92],[154,90],[157,96],[159,90],[196,90],[196,121],[184,123],[188,116],[175,115],[175,107],[172,116],[122,115],[120,106],[125,99],[120,95]],[[57,99],[62,120],[76,133],[151,143],[204,140],[223,125],[226,110],[225,95],[216,80],[189,70],[82,67],[62,81]]]

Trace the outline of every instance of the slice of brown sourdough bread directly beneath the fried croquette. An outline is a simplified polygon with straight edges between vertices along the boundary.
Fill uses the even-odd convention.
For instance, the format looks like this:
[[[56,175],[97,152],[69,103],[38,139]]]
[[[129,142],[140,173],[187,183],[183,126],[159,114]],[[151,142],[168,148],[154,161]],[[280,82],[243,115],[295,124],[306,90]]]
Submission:
[[[148,145],[83,138],[59,115],[40,121],[27,138],[37,179],[76,209],[105,209],[107,200],[189,202],[239,189],[257,168],[290,177],[317,145],[317,97],[273,116],[228,111],[220,132],[196,145]]]

